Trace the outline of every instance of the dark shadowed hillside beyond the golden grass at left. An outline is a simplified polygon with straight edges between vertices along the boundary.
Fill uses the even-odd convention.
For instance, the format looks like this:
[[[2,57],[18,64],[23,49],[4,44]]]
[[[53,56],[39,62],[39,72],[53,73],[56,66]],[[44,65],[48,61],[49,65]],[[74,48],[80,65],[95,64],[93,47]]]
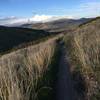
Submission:
[[[49,35],[49,32],[43,30],[0,26],[0,52],[12,49],[20,44],[37,41]]]

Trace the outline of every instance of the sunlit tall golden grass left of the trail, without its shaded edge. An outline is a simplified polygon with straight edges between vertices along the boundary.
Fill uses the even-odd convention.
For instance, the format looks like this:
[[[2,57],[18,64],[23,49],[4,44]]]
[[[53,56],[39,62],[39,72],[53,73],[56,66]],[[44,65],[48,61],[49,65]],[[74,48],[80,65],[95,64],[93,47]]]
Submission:
[[[37,100],[38,81],[49,70],[55,41],[29,46],[0,58],[0,100]]]

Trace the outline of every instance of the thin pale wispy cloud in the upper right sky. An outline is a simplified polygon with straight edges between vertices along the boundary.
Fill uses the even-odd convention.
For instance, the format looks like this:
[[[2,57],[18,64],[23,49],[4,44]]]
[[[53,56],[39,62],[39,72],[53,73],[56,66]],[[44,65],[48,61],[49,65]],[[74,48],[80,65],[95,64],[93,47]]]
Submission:
[[[99,0],[82,0],[79,5],[74,5],[74,7],[58,8],[52,11],[61,14],[72,15],[74,18],[81,17],[96,17],[100,16],[100,1]]]

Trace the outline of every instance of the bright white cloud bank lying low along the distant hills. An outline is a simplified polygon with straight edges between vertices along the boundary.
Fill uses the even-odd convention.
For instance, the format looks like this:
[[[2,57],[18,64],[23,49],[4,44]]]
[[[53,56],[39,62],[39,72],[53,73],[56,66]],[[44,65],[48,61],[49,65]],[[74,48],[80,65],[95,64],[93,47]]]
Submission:
[[[35,15],[32,18],[17,18],[14,16],[1,18],[0,25],[16,26],[25,23],[48,22],[62,18],[73,18],[72,16],[51,16],[51,15]]]

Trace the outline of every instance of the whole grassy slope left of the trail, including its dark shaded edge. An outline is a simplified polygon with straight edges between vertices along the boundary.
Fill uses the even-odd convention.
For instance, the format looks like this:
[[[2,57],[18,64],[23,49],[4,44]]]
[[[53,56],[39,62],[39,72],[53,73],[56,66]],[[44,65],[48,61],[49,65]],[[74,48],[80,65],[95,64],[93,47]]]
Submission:
[[[0,100],[55,100],[56,39],[0,57]]]

